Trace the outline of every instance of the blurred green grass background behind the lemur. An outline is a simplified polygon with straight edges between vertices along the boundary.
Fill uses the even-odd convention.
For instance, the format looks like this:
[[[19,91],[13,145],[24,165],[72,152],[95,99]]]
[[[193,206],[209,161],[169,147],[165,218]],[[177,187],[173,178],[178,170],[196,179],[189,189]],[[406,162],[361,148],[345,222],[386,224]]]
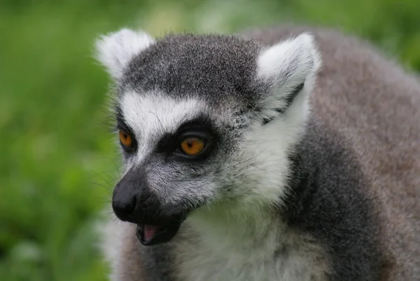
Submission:
[[[95,221],[118,178],[109,78],[92,59],[120,27],[232,32],[333,25],[420,70],[420,1],[0,1],[0,280],[106,280]]]

